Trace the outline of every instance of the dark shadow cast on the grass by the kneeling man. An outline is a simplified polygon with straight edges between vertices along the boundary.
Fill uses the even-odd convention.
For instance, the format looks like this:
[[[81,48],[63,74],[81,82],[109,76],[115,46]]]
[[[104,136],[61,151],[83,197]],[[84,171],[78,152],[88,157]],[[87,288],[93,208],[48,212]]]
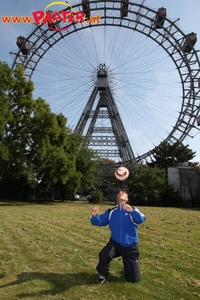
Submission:
[[[48,282],[52,287],[47,290],[37,291],[35,293],[22,293],[16,296],[19,298],[42,295],[54,296],[64,291],[67,291],[73,286],[94,285],[97,280],[97,277],[97,274],[88,274],[85,272],[70,274],[26,272],[19,274],[17,280],[7,283],[5,285],[1,285],[0,288],[21,285],[23,283],[30,282],[33,280],[42,280]],[[110,276],[110,281],[121,281],[121,279]]]

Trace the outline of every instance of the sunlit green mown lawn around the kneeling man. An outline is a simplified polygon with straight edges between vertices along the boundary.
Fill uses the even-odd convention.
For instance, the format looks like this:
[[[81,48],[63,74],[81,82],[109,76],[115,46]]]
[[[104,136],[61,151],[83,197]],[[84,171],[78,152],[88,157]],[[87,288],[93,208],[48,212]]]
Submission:
[[[101,205],[100,212],[112,205]],[[86,203],[0,202],[0,300],[200,299],[200,211],[138,207],[141,281],[126,283],[121,258],[95,284],[107,227]]]

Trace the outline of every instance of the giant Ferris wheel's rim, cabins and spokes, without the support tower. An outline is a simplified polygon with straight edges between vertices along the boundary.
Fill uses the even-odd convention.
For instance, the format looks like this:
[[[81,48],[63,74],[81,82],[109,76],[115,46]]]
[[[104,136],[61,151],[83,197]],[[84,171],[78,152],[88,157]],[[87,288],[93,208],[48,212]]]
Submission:
[[[76,128],[103,64],[136,161],[151,156],[160,142],[183,142],[198,132],[194,32],[185,34],[166,8],[155,10],[144,1],[86,0],[70,10],[84,12],[86,21],[33,25],[11,53],[12,68],[22,64],[34,82],[35,98],[44,98]],[[109,120],[99,122],[108,128]]]

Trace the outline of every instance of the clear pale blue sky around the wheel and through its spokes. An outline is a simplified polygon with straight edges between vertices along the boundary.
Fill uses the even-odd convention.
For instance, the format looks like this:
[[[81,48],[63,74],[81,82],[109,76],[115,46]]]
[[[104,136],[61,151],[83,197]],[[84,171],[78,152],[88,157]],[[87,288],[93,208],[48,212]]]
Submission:
[[[33,11],[44,10],[51,2],[1,1],[1,16],[31,16]],[[78,0],[68,2],[79,3]],[[144,5],[156,11],[165,7],[170,20],[179,19],[180,30],[197,34],[195,49],[200,49],[199,0],[146,0]],[[33,29],[30,24],[3,24],[0,20],[1,61],[12,66],[10,52],[17,52],[16,38],[28,36]],[[64,113],[72,128],[91,95],[96,68],[105,62],[113,96],[135,155],[158,145],[172,130],[181,106],[181,84],[173,62],[161,47],[138,33],[134,33],[133,38],[129,30],[109,28],[103,32],[92,28],[71,34],[52,48],[38,63],[32,77],[34,97],[43,97],[53,111]],[[102,120],[101,125],[108,126],[106,120]],[[196,151],[193,161],[200,162],[200,130],[192,131],[191,136],[185,138],[184,144]]]

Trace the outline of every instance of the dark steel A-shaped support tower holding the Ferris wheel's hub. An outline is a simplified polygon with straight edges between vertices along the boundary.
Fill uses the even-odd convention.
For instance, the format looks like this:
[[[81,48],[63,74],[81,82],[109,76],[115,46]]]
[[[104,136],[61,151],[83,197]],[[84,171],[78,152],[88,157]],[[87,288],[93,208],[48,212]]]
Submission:
[[[103,119],[107,119],[109,126],[101,125]],[[96,150],[101,158],[118,160],[131,169],[136,167],[137,161],[109,86],[105,64],[98,66],[95,87],[75,130],[85,136],[84,144]]]

